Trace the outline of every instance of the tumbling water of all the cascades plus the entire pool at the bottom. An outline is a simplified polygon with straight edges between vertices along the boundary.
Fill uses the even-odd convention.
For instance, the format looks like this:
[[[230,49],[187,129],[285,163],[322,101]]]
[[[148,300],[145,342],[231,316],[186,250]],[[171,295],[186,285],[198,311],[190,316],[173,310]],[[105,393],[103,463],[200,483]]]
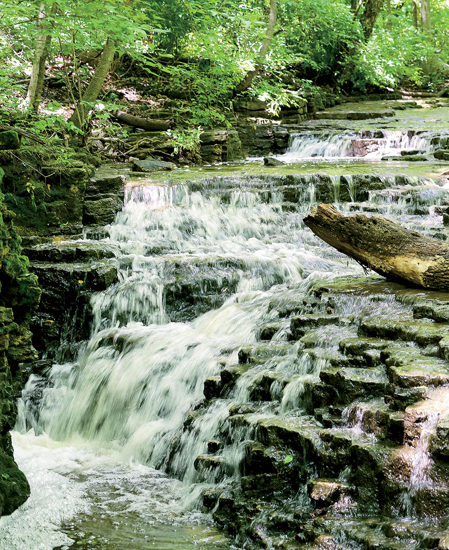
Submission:
[[[302,149],[293,141],[288,154],[344,156],[344,139],[320,139],[303,140]],[[395,139],[401,147],[425,145]],[[393,138],[386,147],[392,145]],[[118,282],[92,296],[89,341],[74,362],[54,365],[45,378],[32,376],[19,401],[13,441],[31,497],[0,520],[1,550],[66,549],[74,541],[84,550],[232,547],[201,511],[200,497],[239,478],[248,434],[241,431],[221,455],[224,482],[213,470],[199,476],[196,458],[267,370],[279,375],[270,389],[276,414],[300,408],[304,388],[327,365],[326,353],[357,327],[324,327],[314,349],[328,351],[313,359],[299,343],[284,353],[288,326],[280,326],[272,345],[280,346],[281,360],[251,369],[228,400],[217,399],[196,417],[204,383],[236,365],[262,326],[279,321],[273,303],[291,293],[305,299],[316,284],[363,274],[304,228],[302,217],[316,200],[313,178],[296,208],[282,191],[264,194],[258,179],[251,181],[252,187],[235,177],[226,193],[213,178],[128,184],[123,211],[98,243],[114,251]],[[352,202],[354,182],[346,178]],[[340,185],[332,183],[335,202]],[[395,197],[380,190],[369,202],[386,208]],[[426,232],[423,218],[410,212],[403,223]],[[394,217],[394,208],[387,215]],[[378,298],[351,305],[366,316],[394,316],[401,307]],[[258,414],[267,411],[269,402]],[[348,430],[360,433],[363,410],[352,416]],[[188,418],[193,427],[183,430]]]

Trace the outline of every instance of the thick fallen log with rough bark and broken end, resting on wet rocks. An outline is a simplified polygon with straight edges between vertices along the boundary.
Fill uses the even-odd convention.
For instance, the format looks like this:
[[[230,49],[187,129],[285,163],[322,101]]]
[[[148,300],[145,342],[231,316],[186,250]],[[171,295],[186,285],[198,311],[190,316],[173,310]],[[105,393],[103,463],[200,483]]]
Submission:
[[[387,279],[449,290],[449,243],[424,237],[377,216],[343,216],[332,205],[310,209],[315,235]]]

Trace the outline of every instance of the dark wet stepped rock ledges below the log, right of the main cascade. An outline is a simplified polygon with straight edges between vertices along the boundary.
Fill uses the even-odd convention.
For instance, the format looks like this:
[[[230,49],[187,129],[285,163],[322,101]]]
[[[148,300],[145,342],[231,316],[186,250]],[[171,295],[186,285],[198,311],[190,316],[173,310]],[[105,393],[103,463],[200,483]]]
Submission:
[[[370,315],[379,300],[396,304],[394,315]],[[353,311],[357,303],[362,312]],[[239,364],[205,383],[206,408],[249,384],[249,400],[233,406],[213,452],[195,462],[205,481],[211,472],[224,479],[227,449],[239,442],[244,449],[237,485],[204,496],[216,521],[262,547],[433,548],[443,541],[448,304],[449,295],[354,280],[315,288],[294,311],[278,308],[280,322],[261,327]],[[278,342],[286,325],[287,340]],[[286,354],[298,366],[273,372]],[[292,389],[288,414],[279,388],[284,396]]]

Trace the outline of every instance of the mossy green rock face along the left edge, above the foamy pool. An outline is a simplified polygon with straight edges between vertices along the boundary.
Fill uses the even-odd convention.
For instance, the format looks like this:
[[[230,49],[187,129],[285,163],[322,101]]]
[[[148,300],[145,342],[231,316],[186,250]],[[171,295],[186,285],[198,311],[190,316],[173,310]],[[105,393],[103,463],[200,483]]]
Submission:
[[[4,172],[0,168],[0,189]],[[29,485],[13,459],[9,431],[17,416],[17,398],[35,359],[28,320],[40,299],[37,277],[28,273],[14,213],[0,192],[0,515],[10,514],[29,496]]]

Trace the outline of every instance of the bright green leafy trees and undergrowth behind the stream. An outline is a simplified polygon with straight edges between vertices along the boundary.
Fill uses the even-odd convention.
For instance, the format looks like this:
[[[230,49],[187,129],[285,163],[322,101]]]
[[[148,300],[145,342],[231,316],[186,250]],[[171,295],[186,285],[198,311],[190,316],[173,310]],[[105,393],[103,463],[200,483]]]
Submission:
[[[276,111],[316,86],[438,91],[448,38],[447,0],[3,0],[0,102],[37,113],[54,81],[83,129],[98,97],[114,100],[109,74],[183,90],[191,124],[213,125],[242,93]]]

